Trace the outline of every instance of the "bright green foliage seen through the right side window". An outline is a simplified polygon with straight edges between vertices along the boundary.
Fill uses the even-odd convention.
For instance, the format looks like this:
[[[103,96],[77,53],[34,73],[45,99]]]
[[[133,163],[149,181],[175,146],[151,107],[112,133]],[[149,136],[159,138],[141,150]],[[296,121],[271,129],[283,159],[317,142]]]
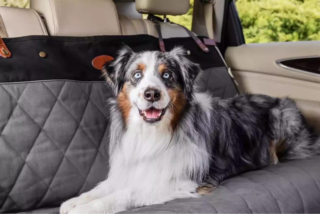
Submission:
[[[246,43],[320,40],[320,0],[238,0]]]

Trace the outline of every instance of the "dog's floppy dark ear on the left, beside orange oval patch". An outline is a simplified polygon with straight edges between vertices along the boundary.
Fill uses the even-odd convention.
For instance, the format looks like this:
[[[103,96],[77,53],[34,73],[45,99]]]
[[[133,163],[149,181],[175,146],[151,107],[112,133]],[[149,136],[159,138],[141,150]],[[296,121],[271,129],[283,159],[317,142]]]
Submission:
[[[113,87],[115,95],[117,95],[123,87],[127,64],[132,55],[132,49],[125,45],[119,50],[115,60],[106,62],[103,65],[101,70],[102,76]]]

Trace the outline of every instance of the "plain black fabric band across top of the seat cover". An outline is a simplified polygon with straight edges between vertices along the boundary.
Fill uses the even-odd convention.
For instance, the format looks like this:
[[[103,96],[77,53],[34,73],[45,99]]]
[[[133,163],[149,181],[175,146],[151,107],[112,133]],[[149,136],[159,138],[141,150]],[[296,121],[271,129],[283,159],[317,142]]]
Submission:
[[[203,39],[204,37],[200,37]],[[27,36],[3,38],[12,57],[0,57],[0,82],[22,82],[51,79],[101,81],[100,71],[92,67],[92,59],[99,55],[115,57],[123,44],[134,51],[159,50],[158,39],[149,35],[54,37]],[[190,59],[202,69],[223,66],[213,46],[204,53],[191,37],[164,39],[165,48],[171,50],[182,45],[191,52]],[[39,56],[45,52],[46,57]]]

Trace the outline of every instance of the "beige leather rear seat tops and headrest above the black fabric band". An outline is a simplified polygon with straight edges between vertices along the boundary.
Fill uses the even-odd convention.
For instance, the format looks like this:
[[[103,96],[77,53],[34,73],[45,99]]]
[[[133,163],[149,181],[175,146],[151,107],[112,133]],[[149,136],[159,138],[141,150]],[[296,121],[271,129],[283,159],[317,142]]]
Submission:
[[[30,0],[30,9],[0,7],[0,36],[149,34],[155,25],[141,13],[182,15],[189,0]],[[160,23],[163,38],[189,37],[179,25]]]

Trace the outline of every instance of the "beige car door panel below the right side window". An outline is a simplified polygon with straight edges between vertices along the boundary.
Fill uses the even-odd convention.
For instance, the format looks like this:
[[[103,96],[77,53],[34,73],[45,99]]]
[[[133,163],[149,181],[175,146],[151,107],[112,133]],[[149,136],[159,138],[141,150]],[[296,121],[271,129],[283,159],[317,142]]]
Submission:
[[[320,131],[320,76],[288,70],[276,61],[320,56],[320,41],[277,42],[228,47],[225,59],[240,88],[250,93],[289,96]]]

